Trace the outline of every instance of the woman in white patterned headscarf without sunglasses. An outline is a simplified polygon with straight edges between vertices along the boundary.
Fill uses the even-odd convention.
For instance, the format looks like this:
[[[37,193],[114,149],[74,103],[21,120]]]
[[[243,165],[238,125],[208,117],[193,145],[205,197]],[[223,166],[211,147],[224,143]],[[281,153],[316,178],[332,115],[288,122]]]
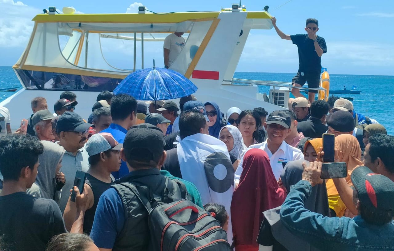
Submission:
[[[243,138],[240,130],[238,130],[234,125],[226,125],[220,130],[219,139],[226,144],[230,155],[237,159],[237,161],[232,164],[234,166],[234,170],[236,170],[240,160],[247,150],[247,147],[243,144]]]

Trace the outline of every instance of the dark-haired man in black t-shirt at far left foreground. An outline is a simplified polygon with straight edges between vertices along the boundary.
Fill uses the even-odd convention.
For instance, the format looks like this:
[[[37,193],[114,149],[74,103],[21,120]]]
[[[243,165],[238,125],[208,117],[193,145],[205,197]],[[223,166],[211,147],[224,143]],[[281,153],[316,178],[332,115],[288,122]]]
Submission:
[[[43,144],[30,135],[8,134],[0,137],[0,170],[4,176],[4,187],[0,193],[1,250],[43,251],[54,235],[67,232],[54,200],[26,194],[26,189],[33,185],[37,176],[40,165],[38,155],[43,151]],[[83,199],[78,191],[78,218],[74,218],[72,233],[82,233],[85,196]]]

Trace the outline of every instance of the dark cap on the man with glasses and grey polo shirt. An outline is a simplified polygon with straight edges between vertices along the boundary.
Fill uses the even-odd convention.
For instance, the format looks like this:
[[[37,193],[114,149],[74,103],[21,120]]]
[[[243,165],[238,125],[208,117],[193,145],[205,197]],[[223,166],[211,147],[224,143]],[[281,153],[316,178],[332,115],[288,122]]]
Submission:
[[[77,113],[65,112],[61,114],[56,123],[56,131],[74,131],[84,132],[89,129],[93,124],[86,123],[84,119]]]

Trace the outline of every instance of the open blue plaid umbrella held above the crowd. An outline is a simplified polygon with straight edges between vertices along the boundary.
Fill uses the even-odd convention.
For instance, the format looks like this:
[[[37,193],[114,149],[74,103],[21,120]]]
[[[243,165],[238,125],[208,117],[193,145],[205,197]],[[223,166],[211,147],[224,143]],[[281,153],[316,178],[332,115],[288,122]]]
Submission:
[[[113,92],[129,94],[136,100],[171,100],[189,96],[197,89],[179,72],[153,66],[131,73]]]

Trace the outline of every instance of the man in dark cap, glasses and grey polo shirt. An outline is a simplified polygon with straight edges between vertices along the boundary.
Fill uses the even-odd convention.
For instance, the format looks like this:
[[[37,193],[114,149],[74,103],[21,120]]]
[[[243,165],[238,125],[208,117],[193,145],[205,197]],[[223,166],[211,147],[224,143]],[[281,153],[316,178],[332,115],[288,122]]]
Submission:
[[[60,115],[56,124],[59,145],[66,150],[60,169],[67,181],[61,191],[59,207],[62,214],[70,196],[70,189],[74,185],[76,171],[86,172],[89,169],[89,155],[85,151],[84,145],[91,126],[92,124],[85,123],[81,116],[73,112],[65,112]]]

